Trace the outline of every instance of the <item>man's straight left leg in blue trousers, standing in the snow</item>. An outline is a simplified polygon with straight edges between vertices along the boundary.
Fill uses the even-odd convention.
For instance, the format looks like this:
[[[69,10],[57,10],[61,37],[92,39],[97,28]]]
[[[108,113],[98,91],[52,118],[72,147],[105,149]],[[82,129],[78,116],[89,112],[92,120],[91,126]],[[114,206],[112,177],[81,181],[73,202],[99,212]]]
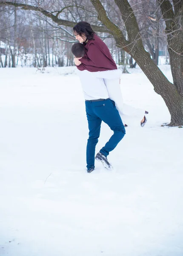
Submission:
[[[95,147],[100,136],[100,126],[102,122],[102,120],[93,113],[92,103],[86,102],[86,116],[89,124],[89,139],[86,146],[86,167],[88,170],[94,168]]]

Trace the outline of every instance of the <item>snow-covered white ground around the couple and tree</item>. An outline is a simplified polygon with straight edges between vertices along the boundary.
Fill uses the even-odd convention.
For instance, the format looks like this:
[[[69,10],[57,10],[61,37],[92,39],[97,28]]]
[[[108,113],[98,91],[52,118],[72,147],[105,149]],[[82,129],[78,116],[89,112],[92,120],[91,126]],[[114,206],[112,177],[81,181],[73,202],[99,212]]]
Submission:
[[[0,256],[183,256],[183,128],[160,126],[163,99],[130,71],[124,100],[148,122],[126,128],[112,172],[88,174],[75,67],[0,68]],[[111,135],[102,124],[97,151]]]

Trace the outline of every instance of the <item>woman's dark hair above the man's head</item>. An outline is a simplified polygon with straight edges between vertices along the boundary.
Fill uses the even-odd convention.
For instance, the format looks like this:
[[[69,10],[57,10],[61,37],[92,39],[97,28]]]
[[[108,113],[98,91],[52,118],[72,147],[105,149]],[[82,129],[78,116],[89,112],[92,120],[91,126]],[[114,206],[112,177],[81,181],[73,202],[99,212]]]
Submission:
[[[83,34],[86,36],[86,40],[93,40],[95,32],[93,31],[91,25],[86,21],[80,21],[73,27],[74,33],[80,35]],[[83,38],[83,37],[82,37]]]

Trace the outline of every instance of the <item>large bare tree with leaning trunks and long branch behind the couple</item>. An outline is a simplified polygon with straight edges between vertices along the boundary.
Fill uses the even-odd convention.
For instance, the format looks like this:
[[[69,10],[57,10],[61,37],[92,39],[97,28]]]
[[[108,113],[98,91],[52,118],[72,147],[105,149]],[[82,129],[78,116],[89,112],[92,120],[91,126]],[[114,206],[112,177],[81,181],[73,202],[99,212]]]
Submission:
[[[33,6],[0,0],[0,4],[2,5],[13,5],[21,7],[24,10],[40,12],[58,25],[72,27],[76,24],[76,21],[61,18],[64,17],[63,9],[60,11],[55,10],[54,4],[51,5],[51,2],[43,2],[45,3],[41,5],[36,1],[38,4],[35,3]],[[169,125],[183,125],[183,1],[172,0],[171,4],[170,0],[157,0],[158,8],[161,9],[162,19],[166,23],[165,33],[167,36],[174,84],[168,81],[166,76],[163,75],[154,63],[149,53],[144,49],[137,19],[128,0],[114,0],[120,11],[123,24],[126,27],[127,38],[123,33],[123,29],[120,28],[121,25],[117,26],[116,23],[109,19],[110,15],[106,14],[105,8],[107,5],[105,2],[103,5],[100,0],[90,0],[90,2],[95,10],[95,15],[92,17],[91,23],[96,17],[99,21],[98,26],[92,25],[94,31],[111,34],[114,37],[117,47],[125,50],[137,61],[137,64],[153,84],[155,92],[163,97],[171,114]],[[74,5],[74,1],[69,1],[69,3],[73,3]],[[81,3],[83,2],[81,1]],[[69,8],[69,5],[67,7]],[[83,8],[83,6],[76,6],[75,8]],[[84,9],[86,10],[87,6]],[[92,12],[94,10],[92,9]],[[90,22],[90,20],[88,21]]]

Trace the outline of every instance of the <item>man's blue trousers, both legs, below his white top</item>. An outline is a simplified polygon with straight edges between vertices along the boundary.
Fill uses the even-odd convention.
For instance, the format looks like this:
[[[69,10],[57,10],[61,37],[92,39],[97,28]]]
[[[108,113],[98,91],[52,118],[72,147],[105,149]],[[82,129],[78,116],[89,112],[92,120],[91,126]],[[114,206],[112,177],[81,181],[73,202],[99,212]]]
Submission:
[[[100,152],[106,157],[112,151],[125,135],[125,127],[121,120],[120,114],[115,107],[114,101],[106,99],[103,101],[92,102],[86,101],[86,116],[89,124],[89,139],[86,147],[87,168],[94,166],[95,147],[100,136],[101,122],[105,122],[114,134],[100,149]]]

